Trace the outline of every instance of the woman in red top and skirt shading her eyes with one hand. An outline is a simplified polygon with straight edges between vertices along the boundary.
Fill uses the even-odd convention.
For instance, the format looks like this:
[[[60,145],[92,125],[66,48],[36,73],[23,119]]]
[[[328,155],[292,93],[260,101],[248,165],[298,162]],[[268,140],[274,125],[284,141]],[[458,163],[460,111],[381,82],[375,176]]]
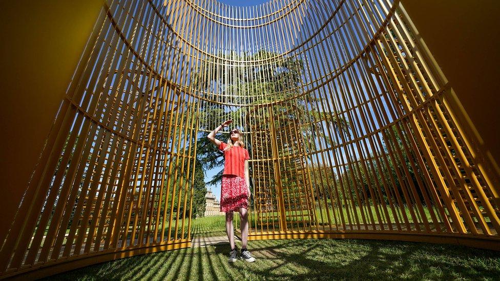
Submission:
[[[248,150],[244,148],[241,132],[234,128],[230,132],[227,143],[215,138],[217,132],[231,124],[227,120],[214,129],[207,138],[224,152],[224,172],[220,192],[220,210],[226,213],[226,232],[231,244],[228,262],[236,262],[238,251],[234,242],[233,211],[240,213],[241,219],[241,254],[240,258],[247,262],[255,262],[255,257],[246,249],[248,239],[248,197],[250,196],[250,180],[248,178]]]

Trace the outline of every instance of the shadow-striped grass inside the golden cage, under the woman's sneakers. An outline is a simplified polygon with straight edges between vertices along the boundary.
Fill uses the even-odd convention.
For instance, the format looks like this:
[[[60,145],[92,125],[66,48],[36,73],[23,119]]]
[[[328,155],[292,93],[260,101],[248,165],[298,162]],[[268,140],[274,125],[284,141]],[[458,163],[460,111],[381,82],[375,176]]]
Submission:
[[[50,280],[489,279],[500,277],[500,253],[462,246],[369,240],[251,241],[255,263],[229,264],[229,246],[122,258],[51,276]]]

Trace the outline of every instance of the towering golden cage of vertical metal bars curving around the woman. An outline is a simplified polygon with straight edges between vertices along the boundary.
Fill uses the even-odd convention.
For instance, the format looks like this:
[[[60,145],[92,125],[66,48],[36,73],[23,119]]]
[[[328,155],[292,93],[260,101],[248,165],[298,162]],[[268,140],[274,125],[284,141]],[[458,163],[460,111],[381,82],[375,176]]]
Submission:
[[[398,0],[106,1],[0,277],[189,247],[197,140],[228,118],[251,152],[249,239],[500,249],[496,163],[417,35]]]

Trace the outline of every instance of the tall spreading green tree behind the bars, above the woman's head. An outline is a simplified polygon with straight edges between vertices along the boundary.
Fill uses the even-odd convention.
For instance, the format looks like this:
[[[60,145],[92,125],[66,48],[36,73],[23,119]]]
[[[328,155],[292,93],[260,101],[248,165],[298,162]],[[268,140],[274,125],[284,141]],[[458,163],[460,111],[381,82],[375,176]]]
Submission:
[[[275,119],[274,127],[279,131],[289,125],[297,123],[309,123],[309,126],[300,128],[303,139],[316,139],[318,137],[327,140],[327,143],[334,145],[335,142],[323,133],[321,126],[327,125],[335,128],[337,134],[343,132],[348,134],[349,123],[343,117],[336,117],[332,114],[320,112],[316,104],[320,101],[309,92],[304,95],[299,87],[304,71],[304,61],[300,57],[280,57],[281,54],[269,51],[258,51],[256,53],[219,53],[214,58],[204,62],[199,68],[193,71],[191,82],[194,89],[198,89],[201,95],[205,92],[215,94],[225,94],[232,97],[230,102],[245,104],[265,104],[279,100],[286,100],[278,104],[271,105]],[[226,58],[236,61],[263,60],[262,64],[247,64],[241,67],[238,63],[220,64],[216,58]],[[296,98],[297,97],[297,98]],[[211,98],[206,96],[206,98]],[[239,120],[241,117],[247,118],[248,108],[238,107],[231,111],[224,111],[218,104],[204,103],[200,118],[204,120],[200,129],[212,131],[220,123],[220,120]],[[253,109],[255,114],[264,120],[269,120],[269,111],[259,107]],[[325,124],[322,124],[324,122]],[[247,122],[248,123],[248,122]],[[267,127],[262,128],[268,130]],[[249,128],[245,128],[249,131]],[[249,144],[250,146],[252,144]],[[317,150],[316,142],[310,142],[306,147],[308,150]],[[223,154],[215,149],[214,145],[202,134],[198,138],[197,155],[203,159],[203,168],[213,169],[222,167],[224,164]],[[287,170],[287,167],[283,167]],[[210,184],[217,184],[222,178],[222,169],[216,174]]]

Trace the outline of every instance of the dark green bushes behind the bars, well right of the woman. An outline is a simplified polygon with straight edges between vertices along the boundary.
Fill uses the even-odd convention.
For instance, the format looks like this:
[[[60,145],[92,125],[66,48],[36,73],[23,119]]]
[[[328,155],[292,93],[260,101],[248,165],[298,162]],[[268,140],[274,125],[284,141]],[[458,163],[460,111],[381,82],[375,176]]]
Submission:
[[[370,153],[368,157],[365,156],[363,162],[358,161],[346,165],[340,177],[336,172],[330,172],[331,167],[329,166],[320,165],[313,167],[313,186],[315,190],[316,188],[319,190],[316,197],[322,199],[323,195],[326,194],[327,199],[338,199],[342,205],[345,204],[345,200],[350,200],[349,204],[359,206],[358,199],[363,204],[373,204],[373,196],[377,197],[377,202],[389,204],[388,197],[391,197],[394,202],[394,192],[399,192],[402,203],[407,204],[408,202],[406,202],[407,200],[403,196],[403,188],[408,188],[411,183],[415,186],[420,201],[425,203],[422,190],[416,178],[422,174],[422,171],[413,170],[410,157],[414,156],[411,150],[409,150],[410,155],[408,155],[405,149],[405,144],[408,146],[409,143],[408,137],[411,136],[403,133],[404,131],[398,129],[397,126],[393,125],[384,131],[386,142],[383,143],[382,152],[377,152],[377,155]],[[401,155],[398,152],[401,152]],[[385,156],[383,157],[382,154]],[[391,154],[393,155],[392,157]],[[376,158],[378,158],[378,161]],[[419,166],[417,167],[420,168]],[[400,177],[398,177],[398,174]],[[403,181],[398,180],[398,178],[403,179]],[[372,192],[370,192],[370,185]],[[335,186],[338,188],[335,189]],[[332,192],[329,192],[328,188]],[[380,188],[381,194],[377,192],[376,188]],[[335,190],[338,190],[338,196],[334,192]],[[411,192],[408,191],[409,193]],[[365,194],[368,202],[366,202]],[[380,198],[380,195],[382,195],[382,198]]]

